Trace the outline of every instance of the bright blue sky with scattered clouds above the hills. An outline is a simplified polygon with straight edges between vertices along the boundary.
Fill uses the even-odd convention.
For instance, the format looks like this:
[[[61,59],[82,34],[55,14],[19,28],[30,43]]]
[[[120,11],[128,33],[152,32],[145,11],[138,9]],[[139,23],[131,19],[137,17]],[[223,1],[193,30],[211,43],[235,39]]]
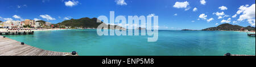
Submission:
[[[109,17],[109,11],[126,17],[155,15],[159,29],[168,30],[200,30],[224,23],[255,26],[255,0],[0,0],[1,21],[39,19],[56,24],[65,19]]]

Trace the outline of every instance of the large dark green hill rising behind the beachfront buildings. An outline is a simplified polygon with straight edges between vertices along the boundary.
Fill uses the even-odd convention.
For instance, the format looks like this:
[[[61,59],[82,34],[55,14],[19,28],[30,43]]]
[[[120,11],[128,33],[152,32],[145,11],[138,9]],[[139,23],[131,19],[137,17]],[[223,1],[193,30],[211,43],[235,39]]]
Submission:
[[[110,26],[113,26],[113,25],[109,25],[109,24],[105,24],[103,22],[101,23],[97,23],[97,18],[92,18],[90,19],[89,17],[83,17],[81,19],[71,19],[71,20],[65,20],[61,23],[57,23],[57,24],[53,24],[53,25],[57,25],[57,26],[71,26],[71,27],[77,27],[77,28],[92,28],[92,29],[97,29],[97,27],[100,25],[100,24],[104,24],[104,26],[107,26],[108,25],[108,28],[107,29],[111,29]],[[114,25],[114,29],[116,27],[119,27],[121,29],[125,29],[125,28],[122,28],[121,26],[118,26],[118,25]]]

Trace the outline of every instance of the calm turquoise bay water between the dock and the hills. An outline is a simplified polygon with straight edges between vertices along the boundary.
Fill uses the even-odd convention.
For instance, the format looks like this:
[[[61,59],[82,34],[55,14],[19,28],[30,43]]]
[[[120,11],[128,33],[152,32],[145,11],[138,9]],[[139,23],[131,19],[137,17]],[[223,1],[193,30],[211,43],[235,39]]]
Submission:
[[[98,36],[92,29],[5,36],[44,50],[77,51],[85,56],[255,55],[255,37],[245,32],[159,30],[157,42],[147,42],[148,36]]]

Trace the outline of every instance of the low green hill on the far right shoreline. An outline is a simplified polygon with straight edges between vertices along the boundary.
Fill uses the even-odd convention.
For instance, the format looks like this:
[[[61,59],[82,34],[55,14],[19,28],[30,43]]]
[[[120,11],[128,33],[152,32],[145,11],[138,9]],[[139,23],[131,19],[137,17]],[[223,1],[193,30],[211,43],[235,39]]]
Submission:
[[[207,29],[203,29],[203,30],[227,30],[227,31],[247,30],[247,31],[255,31],[255,28],[251,27],[251,26],[243,27],[243,26],[239,26],[239,25],[232,25],[232,24],[226,23],[226,24],[218,25],[217,27],[207,28]]]

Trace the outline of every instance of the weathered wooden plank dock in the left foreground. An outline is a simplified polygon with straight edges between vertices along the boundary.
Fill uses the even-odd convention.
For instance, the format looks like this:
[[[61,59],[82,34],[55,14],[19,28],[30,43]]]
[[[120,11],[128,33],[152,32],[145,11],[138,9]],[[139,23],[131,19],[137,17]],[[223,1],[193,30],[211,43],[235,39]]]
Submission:
[[[69,52],[42,50],[0,35],[0,56],[64,56]]]

